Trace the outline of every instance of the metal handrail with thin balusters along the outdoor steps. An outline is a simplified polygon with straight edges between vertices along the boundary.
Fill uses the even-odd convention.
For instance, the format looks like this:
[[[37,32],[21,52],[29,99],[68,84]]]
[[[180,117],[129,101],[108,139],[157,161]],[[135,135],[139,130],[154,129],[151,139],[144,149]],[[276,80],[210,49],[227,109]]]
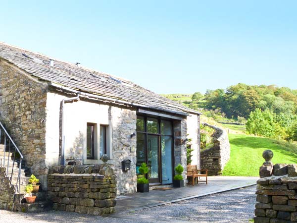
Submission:
[[[0,160],[0,167],[6,167],[6,175],[9,176],[10,174],[10,180],[9,180],[9,186],[12,184],[12,178],[13,178],[13,170],[14,170],[14,164],[18,163],[18,175],[15,183],[14,193],[20,192],[20,183],[21,183],[21,168],[22,168],[22,160],[24,159],[23,155],[21,154],[20,150],[17,148],[13,140],[11,139],[10,135],[7,133],[6,129],[0,122],[0,144],[1,142],[4,144],[3,147],[3,160]],[[8,152],[7,158],[5,158],[5,153]],[[13,156],[13,161],[10,161],[10,157]],[[9,166],[12,162],[12,166]],[[11,168],[11,169],[10,169]],[[11,170],[11,173],[9,172]]]

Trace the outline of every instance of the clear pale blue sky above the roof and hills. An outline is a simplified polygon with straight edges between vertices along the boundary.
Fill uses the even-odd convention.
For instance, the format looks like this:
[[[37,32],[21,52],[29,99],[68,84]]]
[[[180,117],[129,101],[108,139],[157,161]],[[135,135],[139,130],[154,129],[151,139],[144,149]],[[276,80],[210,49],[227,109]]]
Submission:
[[[1,1],[0,41],[156,93],[297,89],[297,1]]]

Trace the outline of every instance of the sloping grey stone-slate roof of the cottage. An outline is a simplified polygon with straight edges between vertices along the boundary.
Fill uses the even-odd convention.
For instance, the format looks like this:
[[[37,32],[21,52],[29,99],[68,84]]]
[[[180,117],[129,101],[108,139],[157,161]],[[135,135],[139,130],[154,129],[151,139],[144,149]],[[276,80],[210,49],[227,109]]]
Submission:
[[[137,104],[136,107],[140,108],[168,110],[172,113],[199,113],[131,81],[60,60],[54,60],[54,65],[50,66],[49,59],[51,57],[2,42],[0,42],[0,57],[34,77],[80,92],[121,100],[130,105]]]

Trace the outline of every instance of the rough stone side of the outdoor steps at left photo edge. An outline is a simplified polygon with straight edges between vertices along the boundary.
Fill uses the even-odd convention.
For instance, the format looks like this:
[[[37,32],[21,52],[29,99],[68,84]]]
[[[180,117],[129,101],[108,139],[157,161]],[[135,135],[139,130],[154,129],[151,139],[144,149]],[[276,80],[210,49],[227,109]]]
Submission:
[[[5,167],[0,167],[0,209],[11,209],[14,187],[9,185],[9,177],[5,171]]]

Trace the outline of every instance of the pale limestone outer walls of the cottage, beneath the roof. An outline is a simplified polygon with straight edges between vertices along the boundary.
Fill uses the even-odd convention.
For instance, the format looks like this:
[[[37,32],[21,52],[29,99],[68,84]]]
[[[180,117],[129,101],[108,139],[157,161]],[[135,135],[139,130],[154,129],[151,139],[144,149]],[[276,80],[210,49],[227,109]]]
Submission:
[[[108,164],[117,176],[117,194],[137,191],[136,121],[137,108],[111,102],[80,100],[64,104],[63,136],[61,101],[77,94],[63,92],[31,74],[0,60],[0,121],[24,156],[22,167],[36,175],[47,190],[48,169],[61,163],[62,137],[64,158],[77,165],[100,165],[100,125],[106,127]],[[95,158],[87,159],[87,123],[96,124]],[[191,128],[188,128],[190,127]],[[198,165],[198,116],[190,114],[173,120],[174,167],[187,166],[187,135],[192,138],[194,163]],[[122,170],[121,162],[131,161],[131,169]],[[173,167],[173,168],[174,168]],[[186,172],[183,173],[186,183]]]

